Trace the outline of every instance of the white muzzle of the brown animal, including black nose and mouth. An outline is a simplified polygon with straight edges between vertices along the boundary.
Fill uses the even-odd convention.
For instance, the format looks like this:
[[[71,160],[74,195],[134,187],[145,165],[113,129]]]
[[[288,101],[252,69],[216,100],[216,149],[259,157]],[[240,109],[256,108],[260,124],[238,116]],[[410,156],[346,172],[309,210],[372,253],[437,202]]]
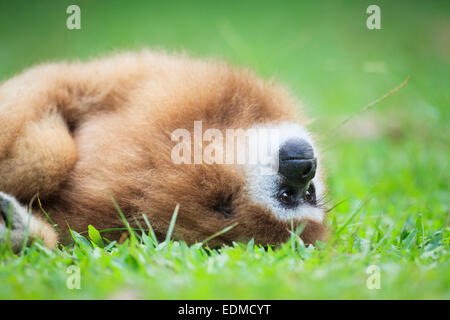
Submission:
[[[261,174],[258,166],[247,166],[249,198],[268,208],[280,221],[306,219],[322,223],[324,185],[318,151],[309,132],[299,124],[288,122],[265,128],[277,133],[274,143],[263,143],[273,147],[270,156],[276,171]]]

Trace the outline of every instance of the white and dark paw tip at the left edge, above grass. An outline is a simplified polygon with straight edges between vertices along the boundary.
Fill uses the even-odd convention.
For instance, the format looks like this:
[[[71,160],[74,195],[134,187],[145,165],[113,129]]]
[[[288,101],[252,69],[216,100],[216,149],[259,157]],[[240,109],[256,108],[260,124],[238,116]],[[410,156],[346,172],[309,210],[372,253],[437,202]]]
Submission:
[[[0,215],[0,245],[5,244],[9,238],[11,249],[18,252],[27,232],[27,209],[13,196],[0,192]]]

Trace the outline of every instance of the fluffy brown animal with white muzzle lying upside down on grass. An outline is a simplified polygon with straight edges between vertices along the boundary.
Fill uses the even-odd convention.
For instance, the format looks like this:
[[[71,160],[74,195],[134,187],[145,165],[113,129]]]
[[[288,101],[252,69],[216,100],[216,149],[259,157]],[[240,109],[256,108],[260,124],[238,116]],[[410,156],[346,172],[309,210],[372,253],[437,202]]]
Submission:
[[[145,214],[159,239],[179,204],[173,237],[189,244],[234,224],[208,245],[279,244],[299,225],[314,243],[326,233],[325,185],[298,111],[285,89],[248,70],[183,55],[141,51],[33,67],[0,86],[0,244],[19,250],[27,230],[27,239],[54,247],[68,227],[123,228],[113,199],[132,227],[146,226]],[[202,132],[276,130],[277,171],[174,161],[175,130],[194,136],[195,121]],[[184,146],[202,152],[212,143],[194,140]],[[62,234],[31,201],[36,195]]]

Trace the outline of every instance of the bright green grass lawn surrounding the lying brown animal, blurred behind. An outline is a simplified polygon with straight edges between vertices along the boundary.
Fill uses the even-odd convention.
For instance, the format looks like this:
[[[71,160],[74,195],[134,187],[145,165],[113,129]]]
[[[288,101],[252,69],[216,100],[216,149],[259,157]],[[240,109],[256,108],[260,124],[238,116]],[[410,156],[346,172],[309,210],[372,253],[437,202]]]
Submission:
[[[222,57],[273,77],[303,100],[321,136],[332,230],[305,247],[219,251],[151,235],[102,249],[39,244],[0,250],[0,298],[449,299],[450,3],[376,1],[68,1],[0,4],[0,78],[53,59],[144,46]],[[375,70],[371,66],[375,65]],[[411,75],[407,86],[337,131],[330,128]],[[91,230],[94,243],[98,235]],[[69,290],[66,268],[81,271]],[[377,265],[381,289],[369,290]]]

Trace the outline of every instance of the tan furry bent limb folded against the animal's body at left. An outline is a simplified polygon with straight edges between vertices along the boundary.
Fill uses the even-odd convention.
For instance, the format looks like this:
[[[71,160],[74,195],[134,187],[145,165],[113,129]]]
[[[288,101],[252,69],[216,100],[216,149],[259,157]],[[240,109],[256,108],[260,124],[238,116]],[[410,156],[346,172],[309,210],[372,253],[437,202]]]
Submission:
[[[0,86],[0,191],[51,194],[77,160],[72,129],[125,105],[154,63],[146,52],[36,66]]]

